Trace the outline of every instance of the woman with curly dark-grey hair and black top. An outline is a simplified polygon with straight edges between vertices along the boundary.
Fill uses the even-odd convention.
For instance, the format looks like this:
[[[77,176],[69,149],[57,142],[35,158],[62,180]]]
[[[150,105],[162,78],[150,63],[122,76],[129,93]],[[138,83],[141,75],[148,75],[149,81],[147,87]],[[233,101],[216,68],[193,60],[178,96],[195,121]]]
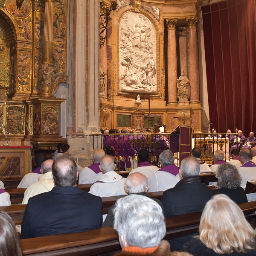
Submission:
[[[229,163],[221,164],[215,177],[218,178],[218,189],[214,190],[215,194],[228,195],[236,204],[248,202],[246,193],[240,186],[242,177],[235,166]]]

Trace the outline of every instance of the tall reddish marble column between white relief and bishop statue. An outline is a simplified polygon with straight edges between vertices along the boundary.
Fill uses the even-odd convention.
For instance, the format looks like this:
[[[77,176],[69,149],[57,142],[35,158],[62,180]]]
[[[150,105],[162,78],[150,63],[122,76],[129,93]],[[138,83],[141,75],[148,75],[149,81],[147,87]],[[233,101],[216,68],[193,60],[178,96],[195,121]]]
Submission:
[[[168,33],[167,65],[168,65],[168,103],[177,105],[177,52],[175,28],[177,19],[166,20]]]

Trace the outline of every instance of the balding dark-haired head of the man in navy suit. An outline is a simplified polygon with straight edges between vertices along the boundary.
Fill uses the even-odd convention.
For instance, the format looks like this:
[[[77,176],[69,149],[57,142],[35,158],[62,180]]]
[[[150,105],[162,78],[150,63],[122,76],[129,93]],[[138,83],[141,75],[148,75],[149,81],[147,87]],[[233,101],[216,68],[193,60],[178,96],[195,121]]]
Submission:
[[[54,161],[52,177],[56,186],[76,186],[77,175],[77,165],[72,158],[63,155]]]

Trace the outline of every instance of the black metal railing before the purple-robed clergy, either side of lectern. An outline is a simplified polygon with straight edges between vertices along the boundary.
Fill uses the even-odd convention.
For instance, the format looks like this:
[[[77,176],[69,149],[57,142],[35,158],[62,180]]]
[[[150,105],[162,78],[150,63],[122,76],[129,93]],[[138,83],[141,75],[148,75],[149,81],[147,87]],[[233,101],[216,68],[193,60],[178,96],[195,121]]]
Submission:
[[[229,160],[230,147],[233,145],[233,140],[229,140],[230,135],[234,137],[238,134],[192,134],[192,148],[200,148],[201,160],[209,165],[214,163],[214,152],[218,149],[224,152],[224,159]],[[91,134],[90,137],[93,149],[102,148],[107,154],[116,157],[118,171],[136,168],[137,152],[142,148],[148,150],[149,161],[155,166],[160,167],[159,154],[164,150],[172,151],[177,166],[179,164],[179,134]],[[239,149],[237,141],[234,145]]]

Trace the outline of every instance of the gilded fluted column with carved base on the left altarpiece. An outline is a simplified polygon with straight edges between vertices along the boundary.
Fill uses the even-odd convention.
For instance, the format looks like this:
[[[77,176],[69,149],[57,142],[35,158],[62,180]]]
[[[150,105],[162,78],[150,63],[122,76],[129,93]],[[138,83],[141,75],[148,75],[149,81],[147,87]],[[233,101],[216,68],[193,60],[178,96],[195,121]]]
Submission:
[[[52,42],[53,42],[53,13],[54,0],[44,0],[44,42],[43,42],[43,64],[44,71],[41,76],[41,97],[52,98]]]

